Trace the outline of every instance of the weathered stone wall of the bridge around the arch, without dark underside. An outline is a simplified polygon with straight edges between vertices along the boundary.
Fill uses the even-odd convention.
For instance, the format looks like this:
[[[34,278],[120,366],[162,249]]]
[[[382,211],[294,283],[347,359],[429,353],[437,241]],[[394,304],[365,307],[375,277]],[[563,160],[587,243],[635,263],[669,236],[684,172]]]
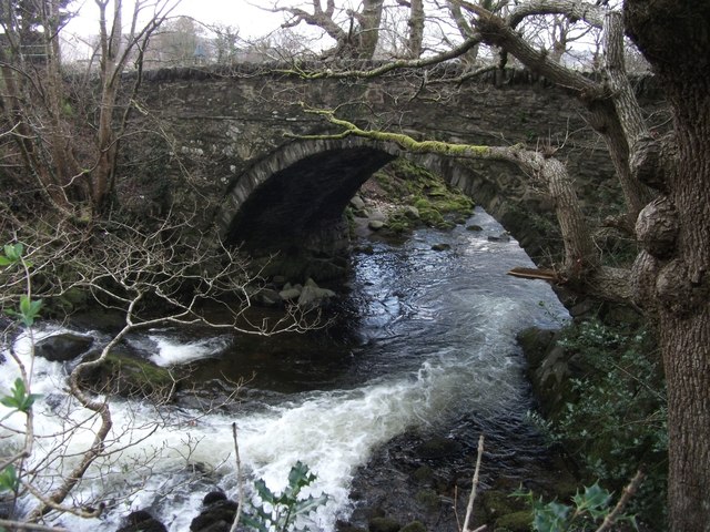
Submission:
[[[160,204],[156,208],[168,208],[172,201],[191,204],[200,213],[204,231],[212,231],[210,226],[216,223],[223,235],[232,233],[234,239],[240,235],[230,233],[230,227],[234,227],[233,216],[245,198],[230,200],[227,193],[261,186],[263,178],[252,185],[245,183],[255,178],[260,166],[277,173],[286,171],[284,165],[294,165],[296,161],[284,155],[293,152],[291,146],[297,142],[291,136],[337,132],[305,112],[306,108],[337,109],[339,116],[361,126],[418,139],[558,146],[557,156],[567,162],[588,214],[613,214],[620,193],[609,156],[574,98],[523,71],[445,83],[456,74],[455,70],[439,68],[426,74],[398,71],[374,80],[307,81],[263,65],[242,65],[232,71],[148,72],[139,95],[144,109],[140,125],[155,133],[138,136],[140,142],[133,150],[156,163],[143,168],[151,175],[149,196]],[[427,84],[423,83],[424,75]],[[639,82],[639,93],[649,112],[661,109],[652,84]],[[351,163],[362,164],[366,173],[372,173],[388,158],[382,155],[385,152],[392,155],[393,150],[374,147]],[[415,158],[470,194],[531,256],[541,253],[546,233],[551,231],[554,206],[517,167],[432,156]],[[337,180],[332,182],[338,186]],[[352,193],[353,182],[347,182],[343,191]],[[329,186],[328,180],[321,180],[317,186]],[[272,191],[266,197],[272,204],[307,202],[306,194],[294,194],[297,190],[292,183],[287,196]],[[337,203],[344,205],[342,197]],[[295,207],[290,216],[298,212]],[[303,209],[307,211],[306,203]],[[317,209],[310,215],[317,217]],[[277,216],[278,209],[274,209],[272,217]],[[284,222],[292,225],[294,219]],[[277,231],[277,225],[270,231]]]

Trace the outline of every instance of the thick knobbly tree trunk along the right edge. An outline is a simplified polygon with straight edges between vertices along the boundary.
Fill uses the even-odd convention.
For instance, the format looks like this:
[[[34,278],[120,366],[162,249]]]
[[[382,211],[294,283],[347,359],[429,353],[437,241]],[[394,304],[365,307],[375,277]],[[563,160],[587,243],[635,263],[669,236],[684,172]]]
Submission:
[[[674,208],[676,245],[672,252],[659,256],[647,244],[650,257],[640,272],[641,289],[658,313],[668,383],[670,528],[677,532],[707,532],[710,531],[710,3],[627,0],[625,17],[628,32],[666,91],[676,133],[673,161],[646,158],[658,160],[653,181],[661,183],[667,204]],[[659,213],[657,217],[659,223],[668,223],[668,216]],[[643,229],[647,224],[645,221]]]

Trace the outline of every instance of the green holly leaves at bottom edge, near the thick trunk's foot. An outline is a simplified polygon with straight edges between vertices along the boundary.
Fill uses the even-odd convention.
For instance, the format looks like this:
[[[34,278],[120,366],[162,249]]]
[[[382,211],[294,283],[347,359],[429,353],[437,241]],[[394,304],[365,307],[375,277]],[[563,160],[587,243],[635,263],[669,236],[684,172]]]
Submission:
[[[558,501],[544,502],[537,499],[531,491],[519,490],[513,494],[526,499],[532,509],[532,530],[537,532],[585,532],[597,528],[609,515],[611,493],[598,483],[586,487],[572,497],[572,504],[564,504]],[[638,530],[636,518],[621,514],[613,520],[615,523],[628,522]]]

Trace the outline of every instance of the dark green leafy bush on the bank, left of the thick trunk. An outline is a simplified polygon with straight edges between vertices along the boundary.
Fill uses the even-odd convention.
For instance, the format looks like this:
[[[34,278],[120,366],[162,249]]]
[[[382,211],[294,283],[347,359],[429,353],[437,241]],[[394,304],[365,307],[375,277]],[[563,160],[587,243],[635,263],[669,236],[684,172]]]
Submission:
[[[556,439],[582,460],[588,478],[620,490],[642,468],[647,475],[630,508],[662,529],[667,482],[666,387],[655,338],[599,320],[568,328],[560,342],[581,367],[577,397],[549,423]]]

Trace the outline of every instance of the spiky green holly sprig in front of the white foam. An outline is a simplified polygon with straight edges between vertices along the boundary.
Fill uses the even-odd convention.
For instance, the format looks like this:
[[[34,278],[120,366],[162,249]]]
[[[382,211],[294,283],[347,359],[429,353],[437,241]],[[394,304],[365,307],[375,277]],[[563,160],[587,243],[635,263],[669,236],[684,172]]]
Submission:
[[[282,493],[274,493],[266,487],[266,482],[258,479],[254,482],[254,488],[261,502],[252,502],[252,508],[244,513],[242,523],[258,532],[302,530],[296,529],[296,518],[314,512],[328,500],[326,494],[321,494],[317,498],[313,495],[300,497],[301,490],[311,485],[315,480],[316,475],[311,473],[308,467],[301,461],[291,468],[288,485]]]

